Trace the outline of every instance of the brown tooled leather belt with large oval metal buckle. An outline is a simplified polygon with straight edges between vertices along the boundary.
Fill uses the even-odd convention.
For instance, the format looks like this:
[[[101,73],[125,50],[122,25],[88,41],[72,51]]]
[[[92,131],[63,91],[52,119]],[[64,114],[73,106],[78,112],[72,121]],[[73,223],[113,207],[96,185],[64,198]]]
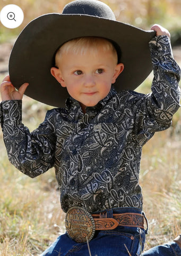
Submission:
[[[71,207],[66,214],[65,227],[75,242],[85,243],[91,241],[96,230],[112,230],[118,226],[144,228],[144,219],[144,214],[140,213],[113,213],[113,218],[107,218],[105,212],[90,214],[82,207]]]

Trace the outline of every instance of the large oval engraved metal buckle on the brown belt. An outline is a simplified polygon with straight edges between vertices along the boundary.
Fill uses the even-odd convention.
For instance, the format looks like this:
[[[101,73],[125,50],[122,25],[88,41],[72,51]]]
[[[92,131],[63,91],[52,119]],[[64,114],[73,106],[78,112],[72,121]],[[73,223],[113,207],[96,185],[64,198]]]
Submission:
[[[67,234],[77,243],[91,241],[96,226],[92,215],[82,207],[71,207],[65,217]]]

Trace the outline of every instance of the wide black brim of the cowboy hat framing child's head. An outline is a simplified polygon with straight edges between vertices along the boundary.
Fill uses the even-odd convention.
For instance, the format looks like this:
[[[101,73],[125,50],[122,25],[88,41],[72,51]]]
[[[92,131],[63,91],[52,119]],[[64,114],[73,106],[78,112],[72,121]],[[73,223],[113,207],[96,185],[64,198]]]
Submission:
[[[31,21],[16,40],[9,61],[10,79],[16,89],[29,83],[25,95],[50,106],[65,107],[68,92],[50,74],[55,51],[70,39],[96,36],[116,42],[122,51],[124,71],[115,89],[135,90],[152,71],[148,43],[155,35],[155,31],[90,15],[45,14]]]

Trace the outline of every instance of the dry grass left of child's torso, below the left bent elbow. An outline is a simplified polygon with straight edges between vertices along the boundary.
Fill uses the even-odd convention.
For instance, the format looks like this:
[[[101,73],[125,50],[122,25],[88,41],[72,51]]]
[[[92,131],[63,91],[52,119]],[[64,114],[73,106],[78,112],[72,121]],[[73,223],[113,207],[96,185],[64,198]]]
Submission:
[[[0,255],[38,255],[64,231],[54,172],[30,179],[1,151]]]

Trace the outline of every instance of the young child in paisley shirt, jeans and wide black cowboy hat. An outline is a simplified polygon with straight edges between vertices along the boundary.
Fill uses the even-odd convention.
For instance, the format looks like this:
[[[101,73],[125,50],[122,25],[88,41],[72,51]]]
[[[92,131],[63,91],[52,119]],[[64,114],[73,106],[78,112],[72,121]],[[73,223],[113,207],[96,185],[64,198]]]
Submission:
[[[96,17],[98,11],[101,18]],[[51,37],[54,47],[48,45],[51,49],[47,52],[37,38],[41,37],[45,44],[49,44],[41,33],[45,36],[48,30],[47,33],[53,35],[55,30],[51,29],[62,23],[57,23],[55,14],[47,14],[30,22],[12,51],[10,77],[5,77],[1,84],[1,125],[11,163],[32,178],[54,166],[61,191],[61,206],[67,213],[67,233],[59,236],[41,255],[83,256],[90,252],[98,256],[181,255],[180,236],[174,242],[142,253],[148,226],[142,212],[143,198],[139,185],[141,150],[154,132],[170,126],[180,100],[180,69],[171,53],[168,30],[154,25],[151,29],[156,31],[156,36],[153,32],[147,36],[146,31],[140,32],[136,28],[137,35],[146,34],[146,38],[139,37],[136,43],[138,37],[130,38],[131,30],[135,28],[125,25],[126,30],[123,28],[118,36],[118,27],[113,31],[107,26],[124,26],[123,23],[113,21],[114,14],[109,7],[96,0],[74,1],[65,6],[63,14],[57,15],[61,22],[63,19],[66,22],[70,20],[71,24],[76,21],[77,31],[72,29],[71,35],[66,35],[64,42],[59,43],[61,47],[57,47],[54,37]],[[44,19],[51,21],[51,26],[43,22]],[[92,23],[85,23],[89,19]],[[40,37],[35,35],[34,27],[39,22],[41,29],[36,28]],[[93,29],[83,31],[82,26]],[[100,28],[99,36],[95,30],[100,31]],[[59,29],[65,34],[70,33],[67,32],[68,26]],[[110,36],[113,33],[114,36]],[[27,37],[32,38],[32,35],[35,41],[30,43],[30,47]],[[50,34],[46,38],[49,37]],[[147,45],[149,37],[154,78],[152,93],[144,95],[128,89],[138,86],[150,71],[150,60],[147,57],[144,59],[147,46],[141,45],[142,55],[137,55],[139,45],[142,41],[143,45]],[[128,47],[131,39],[136,45],[132,52]],[[122,41],[125,41],[126,46]],[[33,48],[36,42],[43,54],[38,63],[39,72],[35,70],[32,73],[32,66],[37,64],[29,63],[28,66],[27,63],[31,56],[37,61],[37,55],[33,54],[37,51]],[[17,51],[17,47],[22,52]],[[28,47],[29,51],[25,51]],[[27,52],[30,52],[29,58],[26,56],[24,59],[23,54]],[[15,65],[16,54],[19,54],[19,58],[18,61],[16,58]],[[70,97],[66,107],[49,110],[45,121],[30,133],[21,122],[21,99],[27,89],[26,93],[33,95],[33,98],[39,97],[45,103],[50,102],[48,96],[51,98],[51,95],[49,91],[46,92],[49,75],[46,75],[47,69],[46,72],[43,70],[48,54],[51,54],[51,65],[48,63],[47,68],[52,78],[55,77],[51,86],[54,97],[64,99],[66,89]],[[23,63],[23,60],[26,62]],[[27,66],[28,71],[23,66]],[[20,67],[21,76],[16,78],[20,74]],[[31,77],[25,78],[24,72],[27,77]],[[125,77],[126,85],[120,82],[122,76]],[[28,83],[20,86],[21,78],[28,79],[24,81]],[[40,88],[37,88],[37,80]],[[62,94],[56,95],[55,81],[58,81]],[[15,90],[13,85],[19,90]],[[56,99],[55,105],[63,104],[57,103]]]

